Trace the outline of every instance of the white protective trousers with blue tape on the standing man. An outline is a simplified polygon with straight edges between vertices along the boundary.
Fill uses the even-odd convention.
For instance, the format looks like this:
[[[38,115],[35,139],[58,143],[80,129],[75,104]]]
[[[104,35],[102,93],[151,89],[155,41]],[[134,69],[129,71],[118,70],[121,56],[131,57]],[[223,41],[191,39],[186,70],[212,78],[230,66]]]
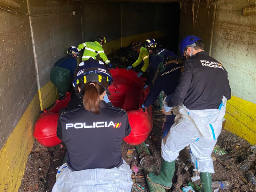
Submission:
[[[190,145],[199,172],[214,173],[212,150],[217,142],[225,115],[227,99],[219,109],[189,110],[183,103],[168,135],[162,140],[161,154],[165,161],[174,161],[180,150]]]

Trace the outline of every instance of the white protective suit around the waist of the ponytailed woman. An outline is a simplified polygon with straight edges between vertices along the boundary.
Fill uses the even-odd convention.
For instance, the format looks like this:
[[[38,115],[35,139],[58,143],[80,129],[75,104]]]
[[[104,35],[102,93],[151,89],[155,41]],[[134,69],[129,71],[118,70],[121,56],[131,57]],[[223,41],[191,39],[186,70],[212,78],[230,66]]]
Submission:
[[[71,171],[63,164],[52,192],[130,192],[132,170],[125,162],[118,168]]]

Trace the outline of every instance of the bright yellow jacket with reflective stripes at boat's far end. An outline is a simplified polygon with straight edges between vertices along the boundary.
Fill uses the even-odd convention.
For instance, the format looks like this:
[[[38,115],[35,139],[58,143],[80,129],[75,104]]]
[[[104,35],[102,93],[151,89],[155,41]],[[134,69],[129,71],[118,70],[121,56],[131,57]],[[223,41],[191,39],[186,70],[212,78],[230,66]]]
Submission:
[[[85,43],[79,44],[77,47],[78,51],[80,51],[83,48],[84,48],[84,54],[82,57],[82,61],[88,60],[90,57],[92,57],[93,59],[96,59],[97,55],[99,54],[100,57],[103,59],[103,61],[105,61],[105,63],[108,64],[110,62],[106,54],[104,53],[104,50],[101,47],[101,44],[98,41],[85,42]]]

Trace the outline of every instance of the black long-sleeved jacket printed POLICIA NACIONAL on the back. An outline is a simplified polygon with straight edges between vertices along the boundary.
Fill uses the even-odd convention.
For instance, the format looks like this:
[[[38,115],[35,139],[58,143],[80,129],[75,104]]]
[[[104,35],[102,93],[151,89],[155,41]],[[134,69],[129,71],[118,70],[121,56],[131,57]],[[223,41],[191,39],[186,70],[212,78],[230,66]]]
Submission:
[[[184,71],[168,106],[183,102],[190,110],[218,109],[223,96],[231,98],[228,72],[203,51],[184,62]]]

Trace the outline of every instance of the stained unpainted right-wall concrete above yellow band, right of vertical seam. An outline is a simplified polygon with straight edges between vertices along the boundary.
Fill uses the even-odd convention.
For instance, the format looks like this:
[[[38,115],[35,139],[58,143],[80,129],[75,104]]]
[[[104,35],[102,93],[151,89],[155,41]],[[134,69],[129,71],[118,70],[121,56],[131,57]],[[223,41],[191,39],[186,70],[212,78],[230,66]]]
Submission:
[[[256,103],[256,16],[243,16],[247,0],[220,3],[212,56],[225,63],[232,95]]]

